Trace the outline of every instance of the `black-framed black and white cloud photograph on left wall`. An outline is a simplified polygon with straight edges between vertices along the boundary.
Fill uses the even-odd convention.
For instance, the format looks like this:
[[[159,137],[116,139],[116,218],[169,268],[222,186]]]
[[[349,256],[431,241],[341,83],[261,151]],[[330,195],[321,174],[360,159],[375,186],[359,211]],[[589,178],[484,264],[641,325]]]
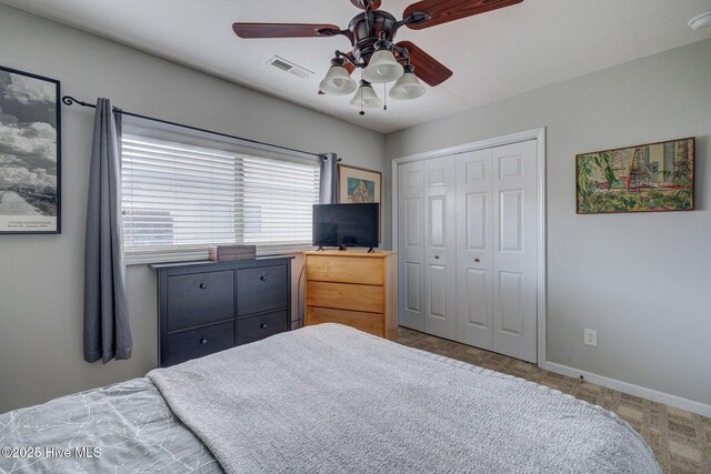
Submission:
[[[59,81],[0,65],[0,233],[61,232]]]

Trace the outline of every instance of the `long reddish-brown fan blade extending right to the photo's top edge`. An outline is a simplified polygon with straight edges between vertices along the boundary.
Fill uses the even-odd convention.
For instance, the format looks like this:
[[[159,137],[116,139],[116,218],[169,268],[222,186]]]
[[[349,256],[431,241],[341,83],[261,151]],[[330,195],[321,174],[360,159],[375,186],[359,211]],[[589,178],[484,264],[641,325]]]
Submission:
[[[405,8],[402,18],[408,18],[414,12],[427,13],[422,21],[408,23],[408,28],[422,30],[435,27],[474,14],[485,13],[499,8],[511,7],[523,0],[422,0]]]

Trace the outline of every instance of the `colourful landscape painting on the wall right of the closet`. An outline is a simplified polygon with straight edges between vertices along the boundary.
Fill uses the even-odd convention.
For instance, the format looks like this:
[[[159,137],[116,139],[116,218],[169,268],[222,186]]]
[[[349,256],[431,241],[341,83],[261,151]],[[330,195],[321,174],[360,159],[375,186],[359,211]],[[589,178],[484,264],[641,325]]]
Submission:
[[[578,214],[692,211],[695,138],[575,155]]]

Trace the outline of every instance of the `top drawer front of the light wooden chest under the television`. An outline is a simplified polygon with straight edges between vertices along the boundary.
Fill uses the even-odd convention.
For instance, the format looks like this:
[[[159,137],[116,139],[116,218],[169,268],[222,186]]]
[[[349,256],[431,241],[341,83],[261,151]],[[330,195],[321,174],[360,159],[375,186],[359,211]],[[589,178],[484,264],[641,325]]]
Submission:
[[[332,255],[307,259],[307,280],[382,285],[382,259]]]

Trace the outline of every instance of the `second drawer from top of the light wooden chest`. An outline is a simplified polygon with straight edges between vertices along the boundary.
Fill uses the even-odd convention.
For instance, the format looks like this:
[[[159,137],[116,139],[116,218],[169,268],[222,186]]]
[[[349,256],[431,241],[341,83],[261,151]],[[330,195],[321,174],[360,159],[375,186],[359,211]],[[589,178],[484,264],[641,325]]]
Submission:
[[[382,286],[307,282],[307,306],[382,313]]]

